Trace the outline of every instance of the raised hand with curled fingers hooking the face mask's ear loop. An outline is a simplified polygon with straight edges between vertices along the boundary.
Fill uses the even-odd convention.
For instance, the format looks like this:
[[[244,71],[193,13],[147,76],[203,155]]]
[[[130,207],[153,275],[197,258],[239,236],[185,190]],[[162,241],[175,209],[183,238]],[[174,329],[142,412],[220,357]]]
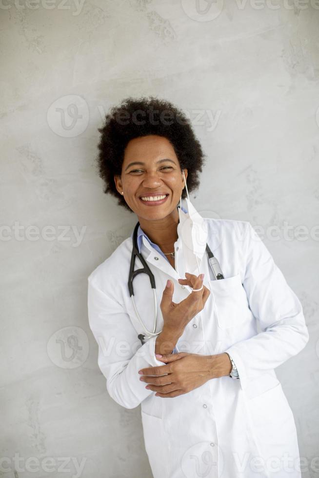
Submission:
[[[185,276],[186,279],[179,279],[180,284],[188,285],[193,289],[200,289],[203,285],[203,279],[200,279],[200,275],[197,277],[186,272]],[[160,302],[160,310],[164,321],[163,328],[173,332],[179,331],[182,335],[188,322],[204,308],[210,291],[203,286],[201,290],[192,291],[186,299],[177,304],[172,301],[174,284],[172,281],[170,281],[170,284],[169,287],[164,289]]]

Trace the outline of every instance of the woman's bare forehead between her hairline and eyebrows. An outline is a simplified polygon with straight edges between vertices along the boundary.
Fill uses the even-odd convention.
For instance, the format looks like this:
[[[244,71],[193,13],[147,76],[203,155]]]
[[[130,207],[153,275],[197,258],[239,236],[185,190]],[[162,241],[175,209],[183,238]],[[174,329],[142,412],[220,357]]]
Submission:
[[[167,138],[157,135],[141,136],[131,139],[124,151],[124,163],[132,159],[148,161],[152,159],[170,158],[176,159],[173,145]]]

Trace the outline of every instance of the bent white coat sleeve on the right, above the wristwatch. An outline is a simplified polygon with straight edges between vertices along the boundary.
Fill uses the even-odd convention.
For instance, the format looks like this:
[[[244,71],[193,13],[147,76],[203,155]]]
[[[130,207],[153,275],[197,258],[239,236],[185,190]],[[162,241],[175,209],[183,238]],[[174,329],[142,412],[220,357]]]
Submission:
[[[262,332],[225,350],[236,363],[242,390],[297,355],[309,340],[299,299],[250,222],[245,227],[243,287]]]

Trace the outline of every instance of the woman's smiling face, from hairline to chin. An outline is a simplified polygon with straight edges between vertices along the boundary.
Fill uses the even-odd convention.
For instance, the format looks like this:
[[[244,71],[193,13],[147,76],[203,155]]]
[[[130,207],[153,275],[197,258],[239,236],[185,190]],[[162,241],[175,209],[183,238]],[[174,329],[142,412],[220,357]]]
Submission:
[[[184,169],[187,178],[187,169]],[[168,139],[149,135],[131,139],[124,151],[121,176],[114,176],[117,190],[135,214],[143,219],[163,219],[175,212],[185,186],[179,160]],[[143,201],[141,197],[165,199]]]

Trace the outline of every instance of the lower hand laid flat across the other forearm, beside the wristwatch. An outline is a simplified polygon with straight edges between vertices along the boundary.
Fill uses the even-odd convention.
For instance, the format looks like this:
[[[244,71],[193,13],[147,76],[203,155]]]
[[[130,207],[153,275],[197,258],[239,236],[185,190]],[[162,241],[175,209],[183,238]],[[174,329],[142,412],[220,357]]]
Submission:
[[[140,380],[147,382],[146,388],[157,392],[162,398],[171,398],[200,387],[211,378],[230,374],[232,364],[228,354],[199,355],[181,352],[167,354],[158,360],[166,365],[143,368]],[[166,374],[166,375],[164,375]]]

